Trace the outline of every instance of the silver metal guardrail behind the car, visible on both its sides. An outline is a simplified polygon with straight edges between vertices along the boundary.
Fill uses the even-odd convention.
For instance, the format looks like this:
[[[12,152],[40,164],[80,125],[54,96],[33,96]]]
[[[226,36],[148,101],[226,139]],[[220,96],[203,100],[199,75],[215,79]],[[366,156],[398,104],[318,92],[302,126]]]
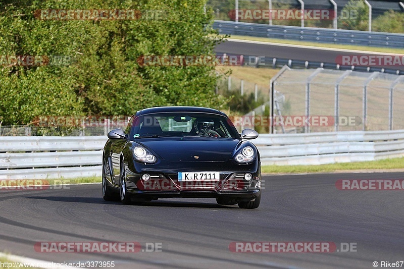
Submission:
[[[101,176],[106,141],[106,136],[0,137],[4,146],[0,147],[0,180]],[[263,165],[319,165],[404,156],[404,130],[260,134],[252,142]]]

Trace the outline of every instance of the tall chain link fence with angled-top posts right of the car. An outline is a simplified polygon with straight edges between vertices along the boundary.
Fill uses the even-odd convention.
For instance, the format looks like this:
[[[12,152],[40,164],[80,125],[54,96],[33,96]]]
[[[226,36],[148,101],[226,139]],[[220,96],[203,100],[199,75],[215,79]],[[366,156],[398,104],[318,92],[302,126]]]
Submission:
[[[271,115],[283,121],[306,120],[289,129],[286,123],[274,124],[274,133],[404,129],[403,75],[285,66],[271,80],[271,88]],[[316,117],[324,119],[323,124],[314,123]]]

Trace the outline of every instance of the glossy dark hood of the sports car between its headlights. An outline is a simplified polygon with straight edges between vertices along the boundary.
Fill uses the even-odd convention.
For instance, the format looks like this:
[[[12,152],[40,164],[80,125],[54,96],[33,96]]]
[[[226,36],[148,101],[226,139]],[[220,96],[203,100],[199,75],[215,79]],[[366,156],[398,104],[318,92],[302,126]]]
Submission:
[[[136,142],[168,162],[225,162],[241,143],[238,139],[212,137],[144,138]]]

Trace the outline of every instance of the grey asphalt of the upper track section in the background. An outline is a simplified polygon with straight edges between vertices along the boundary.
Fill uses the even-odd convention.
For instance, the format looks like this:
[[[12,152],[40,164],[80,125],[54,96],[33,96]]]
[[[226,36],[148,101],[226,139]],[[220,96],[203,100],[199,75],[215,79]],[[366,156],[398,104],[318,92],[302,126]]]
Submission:
[[[273,44],[255,44],[237,41],[225,41],[216,46],[216,53],[230,53],[231,55],[254,55],[275,57],[309,62],[323,62],[335,64],[336,58],[341,55],[361,56],[369,53],[335,51],[322,48],[289,47]],[[374,55],[374,54],[372,54]],[[383,53],[377,54],[383,55]],[[404,70],[404,66],[382,66],[386,69]]]

